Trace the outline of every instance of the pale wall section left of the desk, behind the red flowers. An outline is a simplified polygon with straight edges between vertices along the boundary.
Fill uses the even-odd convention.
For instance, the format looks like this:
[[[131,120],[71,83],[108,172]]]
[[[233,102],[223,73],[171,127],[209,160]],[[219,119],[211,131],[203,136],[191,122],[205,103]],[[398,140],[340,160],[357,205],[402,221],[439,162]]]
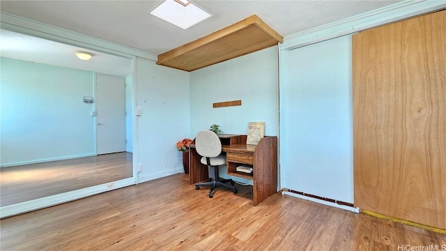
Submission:
[[[191,137],[189,73],[137,60],[138,182],[184,172],[176,142]]]

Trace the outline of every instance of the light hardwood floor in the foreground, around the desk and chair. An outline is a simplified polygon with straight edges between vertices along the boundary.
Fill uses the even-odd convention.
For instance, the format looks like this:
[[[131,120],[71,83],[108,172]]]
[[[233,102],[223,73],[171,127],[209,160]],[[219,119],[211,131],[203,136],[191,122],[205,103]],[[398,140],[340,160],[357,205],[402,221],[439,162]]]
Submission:
[[[1,250],[411,250],[446,236],[275,194],[195,190],[176,174],[0,220]],[[442,246],[443,245],[443,246]],[[415,249],[414,249],[415,250]],[[433,249],[431,249],[433,250]]]

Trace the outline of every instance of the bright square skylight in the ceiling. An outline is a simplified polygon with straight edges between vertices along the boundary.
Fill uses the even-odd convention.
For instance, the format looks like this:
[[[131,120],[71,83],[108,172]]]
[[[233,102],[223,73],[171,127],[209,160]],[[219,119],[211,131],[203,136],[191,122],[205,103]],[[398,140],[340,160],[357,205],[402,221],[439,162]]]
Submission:
[[[165,0],[151,11],[151,15],[182,29],[187,29],[211,16],[194,3],[186,0]]]

